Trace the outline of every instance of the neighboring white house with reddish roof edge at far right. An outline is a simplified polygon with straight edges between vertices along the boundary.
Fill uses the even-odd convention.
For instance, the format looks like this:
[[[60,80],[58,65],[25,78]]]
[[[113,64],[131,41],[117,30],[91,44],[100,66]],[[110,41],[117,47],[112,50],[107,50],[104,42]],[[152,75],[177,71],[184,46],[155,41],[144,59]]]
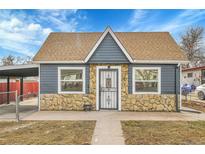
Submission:
[[[205,66],[182,70],[182,84],[199,86],[205,83]]]

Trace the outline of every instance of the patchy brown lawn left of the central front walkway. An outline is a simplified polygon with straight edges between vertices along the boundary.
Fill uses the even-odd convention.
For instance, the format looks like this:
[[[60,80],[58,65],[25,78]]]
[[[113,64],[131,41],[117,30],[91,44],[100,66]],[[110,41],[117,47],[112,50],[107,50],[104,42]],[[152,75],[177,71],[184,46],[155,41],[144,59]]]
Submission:
[[[91,144],[95,121],[0,122],[0,144]]]

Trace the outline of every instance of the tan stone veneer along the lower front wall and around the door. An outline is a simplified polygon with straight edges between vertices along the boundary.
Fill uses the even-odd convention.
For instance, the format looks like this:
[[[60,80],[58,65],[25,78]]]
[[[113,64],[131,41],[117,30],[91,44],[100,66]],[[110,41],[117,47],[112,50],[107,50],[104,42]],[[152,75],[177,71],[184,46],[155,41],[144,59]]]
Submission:
[[[84,103],[91,103],[96,109],[96,66],[90,65],[88,94],[41,94],[41,110],[83,110]],[[113,66],[113,65],[110,65]],[[128,65],[121,66],[121,110],[122,111],[176,111],[175,94],[129,94]]]

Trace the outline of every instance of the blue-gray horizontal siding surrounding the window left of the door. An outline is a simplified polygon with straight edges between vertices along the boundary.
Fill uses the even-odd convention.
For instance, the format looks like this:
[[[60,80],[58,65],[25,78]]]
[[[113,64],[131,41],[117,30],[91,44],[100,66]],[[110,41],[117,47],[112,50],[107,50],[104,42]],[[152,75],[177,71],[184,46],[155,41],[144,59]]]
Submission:
[[[41,94],[58,93],[58,67],[86,67],[86,93],[89,92],[89,65],[41,64],[40,92]]]

